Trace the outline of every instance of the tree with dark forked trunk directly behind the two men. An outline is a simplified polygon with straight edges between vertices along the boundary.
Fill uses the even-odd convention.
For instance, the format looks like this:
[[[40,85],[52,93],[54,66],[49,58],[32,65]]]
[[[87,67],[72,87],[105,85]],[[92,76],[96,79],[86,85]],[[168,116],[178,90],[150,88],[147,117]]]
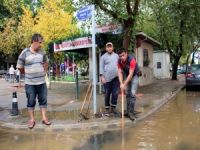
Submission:
[[[80,0],[80,3],[95,4],[123,26],[123,47],[129,48],[139,12],[140,0]],[[112,21],[113,22],[113,21]]]

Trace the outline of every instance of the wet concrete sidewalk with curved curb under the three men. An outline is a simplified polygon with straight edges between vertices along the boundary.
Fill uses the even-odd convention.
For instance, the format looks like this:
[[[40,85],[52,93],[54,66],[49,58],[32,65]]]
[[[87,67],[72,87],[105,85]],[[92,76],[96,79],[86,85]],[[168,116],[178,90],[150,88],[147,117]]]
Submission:
[[[144,119],[158,110],[162,105],[172,99],[182,87],[184,87],[184,76],[179,80],[155,79],[150,85],[141,86],[138,89],[136,110],[141,112],[136,121],[132,122],[125,118],[125,126],[132,126],[137,121]],[[0,80],[0,125],[3,128],[29,130],[27,128],[28,114],[26,110],[26,96],[24,85],[18,87],[17,83],[8,83]],[[39,131],[80,131],[80,130],[107,130],[121,127],[121,119],[115,117],[96,118],[92,115],[92,102],[90,104],[90,119],[78,122],[79,112],[86,93],[88,82],[81,82],[80,99],[76,100],[76,86],[74,83],[51,83],[48,90],[48,118],[51,126],[41,123],[39,107],[36,105],[36,126],[32,130]],[[12,93],[17,92],[19,115],[11,116]],[[86,105],[87,106],[87,105]],[[97,95],[97,110],[104,106],[104,95]],[[126,108],[126,107],[125,107]],[[85,108],[87,109],[87,108]],[[84,109],[84,110],[85,110]],[[118,110],[121,110],[121,96],[118,98]]]

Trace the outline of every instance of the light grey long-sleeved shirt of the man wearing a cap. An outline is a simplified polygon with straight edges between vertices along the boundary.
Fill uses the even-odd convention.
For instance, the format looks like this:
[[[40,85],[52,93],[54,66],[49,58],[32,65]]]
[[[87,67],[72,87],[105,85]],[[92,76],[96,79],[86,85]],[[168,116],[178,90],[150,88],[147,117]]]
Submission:
[[[105,53],[100,59],[100,74],[103,75],[107,82],[118,76],[117,64],[119,56],[116,53]]]

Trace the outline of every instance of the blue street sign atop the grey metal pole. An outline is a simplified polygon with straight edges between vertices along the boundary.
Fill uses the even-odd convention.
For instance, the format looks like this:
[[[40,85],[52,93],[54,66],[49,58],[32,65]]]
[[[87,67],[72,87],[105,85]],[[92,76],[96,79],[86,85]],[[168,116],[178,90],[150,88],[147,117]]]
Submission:
[[[78,18],[78,20],[81,20],[81,21],[87,20],[91,16],[92,16],[91,6],[86,6],[79,9],[79,11],[76,14],[76,17]]]

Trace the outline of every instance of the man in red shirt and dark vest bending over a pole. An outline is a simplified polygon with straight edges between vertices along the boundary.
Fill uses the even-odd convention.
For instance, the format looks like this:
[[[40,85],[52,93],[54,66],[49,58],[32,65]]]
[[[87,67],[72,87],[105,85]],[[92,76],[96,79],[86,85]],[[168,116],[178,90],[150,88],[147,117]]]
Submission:
[[[138,87],[139,68],[134,57],[128,55],[127,50],[121,48],[118,50],[118,77],[120,88],[126,90],[127,113],[131,120],[135,120],[134,106],[136,101],[136,91]],[[124,79],[124,80],[123,80]]]

